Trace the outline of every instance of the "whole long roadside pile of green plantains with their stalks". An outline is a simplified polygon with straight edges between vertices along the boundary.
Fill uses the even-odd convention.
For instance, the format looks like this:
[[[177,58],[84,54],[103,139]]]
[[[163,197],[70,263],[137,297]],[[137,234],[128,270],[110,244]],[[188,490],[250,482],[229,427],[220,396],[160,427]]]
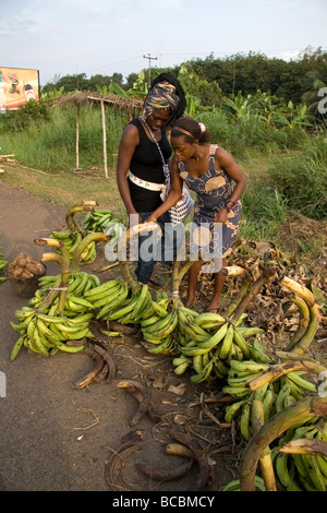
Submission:
[[[319,326],[319,306],[311,290],[284,274],[280,276],[276,262],[268,259],[255,278],[237,265],[221,271],[242,281],[221,314],[198,313],[181,301],[180,284],[193,262],[174,262],[170,294],[135,282],[123,260],[118,260],[120,275],[100,283],[80,265],[94,261],[96,242],[119,239],[121,223],[109,211],[96,214],[94,207],[95,202],[75,206],[68,213],[66,230],[35,240],[55,248],[44,253],[41,262],[57,262],[60,272],[41,277],[35,296],[15,312],[17,322],[11,325],[19,338],[11,360],[22,347],[44,356],[84,350],[95,358],[96,366],[75,387],[100,375],[110,381],[112,361],[97,344],[90,322],[98,322],[109,338],[124,326],[133,326],[148,353],[171,358],[175,374],[185,374],[194,383],[219,382],[230,398],[225,420],[240,429],[246,446],[240,478],[227,485],[226,491],[325,491],[327,397],[319,392],[327,384],[327,371],[307,351]],[[74,217],[77,212],[87,213],[83,228]],[[102,216],[106,222],[101,223]],[[134,226],[126,230],[124,243],[143,230],[157,229],[155,223]],[[300,317],[286,350],[267,351],[261,338],[265,331],[246,324],[246,308],[272,279],[296,306]],[[135,383],[122,381],[120,386],[134,391],[144,414],[144,394],[140,396]],[[141,409],[134,423],[140,416]]]

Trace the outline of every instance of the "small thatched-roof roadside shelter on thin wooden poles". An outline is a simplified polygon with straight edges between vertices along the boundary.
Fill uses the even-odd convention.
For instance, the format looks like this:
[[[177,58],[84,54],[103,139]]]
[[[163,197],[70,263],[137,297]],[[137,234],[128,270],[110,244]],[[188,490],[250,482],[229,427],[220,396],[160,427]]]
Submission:
[[[105,175],[108,178],[107,168],[107,132],[105,122],[105,104],[119,110],[128,112],[129,119],[137,117],[141,114],[143,107],[143,99],[129,98],[118,95],[106,95],[101,93],[93,93],[89,91],[83,91],[82,93],[73,93],[69,95],[62,95],[51,98],[51,103],[65,107],[69,105],[76,106],[76,169],[80,168],[78,158],[78,135],[80,135],[80,109],[83,106],[92,106],[95,103],[100,103],[101,117],[102,117],[102,134],[104,134],[104,162],[105,162]]]

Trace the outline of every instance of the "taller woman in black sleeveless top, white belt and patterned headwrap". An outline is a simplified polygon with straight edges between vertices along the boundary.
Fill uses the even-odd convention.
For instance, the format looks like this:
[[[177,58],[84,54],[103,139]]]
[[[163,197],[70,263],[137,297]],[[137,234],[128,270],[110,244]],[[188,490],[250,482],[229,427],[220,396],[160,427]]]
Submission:
[[[171,156],[166,129],[183,115],[185,106],[180,82],[170,73],[161,73],[152,84],[142,116],[132,120],[123,131],[118,154],[117,182],[130,217],[130,226],[152,217],[164,230],[165,224],[170,222],[167,206],[174,205],[181,193],[172,176],[166,212],[161,215],[160,194],[165,189],[162,157],[168,163]],[[143,240],[144,237],[141,243]],[[140,282],[156,282],[153,275],[155,260],[154,252],[150,259],[144,259],[138,253],[136,276]]]

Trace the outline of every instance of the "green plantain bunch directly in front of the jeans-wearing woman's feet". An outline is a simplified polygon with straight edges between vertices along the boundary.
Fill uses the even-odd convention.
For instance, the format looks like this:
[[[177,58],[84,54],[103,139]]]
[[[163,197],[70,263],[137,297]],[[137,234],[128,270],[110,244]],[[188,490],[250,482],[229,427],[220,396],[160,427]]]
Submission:
[[[178,310],[169,298],[153,300],[150,305],[153,313],[140,321],[143,338],[153,345],[147,349],[148,353],[168,355],[174,348]]]

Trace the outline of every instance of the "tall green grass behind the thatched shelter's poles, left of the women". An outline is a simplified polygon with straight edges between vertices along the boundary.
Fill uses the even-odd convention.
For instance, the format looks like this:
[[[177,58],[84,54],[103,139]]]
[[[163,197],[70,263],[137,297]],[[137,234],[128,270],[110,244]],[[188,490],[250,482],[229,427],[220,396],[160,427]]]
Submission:
[[[108,166],[114,162],[123,127],[128,119],[123,114],[106,109]],[[12,128],[1,133],[1,152],[14,154],[23,164],[52,172],[71,170],[76,167],[76,110],[73,106],[52,107],[50,120],[26,123],[19,130]],[[97,106],[81,109],[80,167],[102,167],[102,124]]]

